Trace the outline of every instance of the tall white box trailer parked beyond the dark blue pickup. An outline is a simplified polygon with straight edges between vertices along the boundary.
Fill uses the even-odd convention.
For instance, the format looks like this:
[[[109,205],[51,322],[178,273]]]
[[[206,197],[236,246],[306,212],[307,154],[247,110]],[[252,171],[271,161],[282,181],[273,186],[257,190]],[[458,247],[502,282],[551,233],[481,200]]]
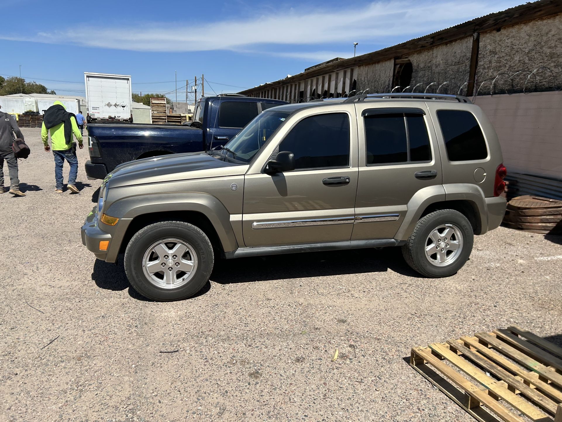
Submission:
[[[84,73],[90,122],[133,122],[131,77],[109,73]]]

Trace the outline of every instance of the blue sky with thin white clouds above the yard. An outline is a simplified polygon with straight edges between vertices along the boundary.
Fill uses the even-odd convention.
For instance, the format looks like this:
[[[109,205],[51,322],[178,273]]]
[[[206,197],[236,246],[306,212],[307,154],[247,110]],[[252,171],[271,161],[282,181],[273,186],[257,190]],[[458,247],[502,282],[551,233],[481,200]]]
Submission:
[[[15,19],[0,26],[0,75],[19,75],[21,65],[27,80],[84,95],[85,71],[127,74],[134,92],[175,100],[177,71],[182,101],[194,76],[205,74],[206,94],[238,92],[351,57],[353,42],[361,55],[522,3],[15,0],[2,5]]]

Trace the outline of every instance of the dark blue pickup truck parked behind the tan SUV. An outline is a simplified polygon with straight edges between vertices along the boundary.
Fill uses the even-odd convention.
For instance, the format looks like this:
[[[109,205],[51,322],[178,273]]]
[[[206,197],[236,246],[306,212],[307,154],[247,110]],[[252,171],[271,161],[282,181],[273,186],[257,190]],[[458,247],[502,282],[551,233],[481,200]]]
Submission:
[[[127,161],[177,152],[207,151],[226,143],[263,110],[285,101],[245,96],[202,97],[187,125],[92,123],[88,125],[89,179],[103,179]]]

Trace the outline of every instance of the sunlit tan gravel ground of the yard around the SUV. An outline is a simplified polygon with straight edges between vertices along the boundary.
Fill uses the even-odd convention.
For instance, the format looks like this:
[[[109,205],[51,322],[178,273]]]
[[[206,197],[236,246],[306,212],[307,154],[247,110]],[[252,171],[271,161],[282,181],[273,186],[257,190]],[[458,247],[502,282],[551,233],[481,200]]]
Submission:
[[[148,302],[122,258],[81,244],[87,149],[80,194],[56,194],[52,153],[23,131],[28,195],[0,196],[0,421],[468,422],[407,365],[413,345],[510,324],[562,343],[562,240],[507,228],[447,279],[398,249],[280,255],[219,261],[197,297]]]

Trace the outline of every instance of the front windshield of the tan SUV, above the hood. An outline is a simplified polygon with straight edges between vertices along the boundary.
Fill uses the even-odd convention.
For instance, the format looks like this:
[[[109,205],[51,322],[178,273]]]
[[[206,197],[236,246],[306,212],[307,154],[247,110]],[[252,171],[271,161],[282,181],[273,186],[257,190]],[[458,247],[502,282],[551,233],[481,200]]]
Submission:
[[[232,154],[233,159],[249,163],[289,114],[286,111],[264,111],[226,144],[224,154]]]

